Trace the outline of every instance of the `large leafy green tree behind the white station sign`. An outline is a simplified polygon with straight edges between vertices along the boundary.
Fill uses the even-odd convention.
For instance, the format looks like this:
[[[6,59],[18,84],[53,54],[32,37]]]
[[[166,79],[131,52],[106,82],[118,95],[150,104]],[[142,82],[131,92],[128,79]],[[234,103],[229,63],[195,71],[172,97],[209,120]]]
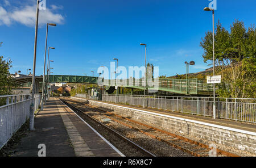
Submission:
[[[205,33],[200,46],[204,49],[204,62],[213,61],[212,32]],[[214,36],[216,75],[222,75],[217,93],[232,98],[255,98],[256,93],[256,31],[255,26],[245,28],[235,20],[230,32],[217,23]],[[228,83],[225,85],[225,83]]]

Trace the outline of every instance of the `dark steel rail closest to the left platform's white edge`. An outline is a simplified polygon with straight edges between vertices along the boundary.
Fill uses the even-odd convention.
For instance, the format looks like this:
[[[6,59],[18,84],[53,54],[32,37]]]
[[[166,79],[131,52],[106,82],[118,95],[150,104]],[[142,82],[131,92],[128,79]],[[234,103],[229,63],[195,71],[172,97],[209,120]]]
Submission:
[[[97,124],[100,124],[102,125],[102,127],[108,129],[109,131],[113,132],[115,135],[117,135],[118,137],[122,138],[122,140],[128,142],[129,144],[133,145],[135,148],[141,150],[141,152],[143,152],[144,154],[150,156],[150,157],[156,157],[154,154],[148,152],[146,149],[143,149],[141,146],[135,144],[133,141],[129,140],[128,138],[122,136],[121,134],[119,134],[118,132],[114,131],[114,129],[112,128],[109,128],[108,126],[106,126],[105,124],[102,124],[100,121],[94,119],[93,117],[91,117],[90,115],[88,114],[85,114],[84,111],[80,110],[79,108],[76,108],[75,106],[73,106],[72,104],[66,102],[65,100],[63,99],[60,99],[63,103],[65,103],[67,106],[73,108],[74,110],[77,110],[79,112],[82,112],[82,114],[84,114],[86,117],[88,117],[89,119],[93,120],[94,122],[96,122]],[[78,103],[78,102],[77,102]],[[79,115],[79,114],[77,114]]]

